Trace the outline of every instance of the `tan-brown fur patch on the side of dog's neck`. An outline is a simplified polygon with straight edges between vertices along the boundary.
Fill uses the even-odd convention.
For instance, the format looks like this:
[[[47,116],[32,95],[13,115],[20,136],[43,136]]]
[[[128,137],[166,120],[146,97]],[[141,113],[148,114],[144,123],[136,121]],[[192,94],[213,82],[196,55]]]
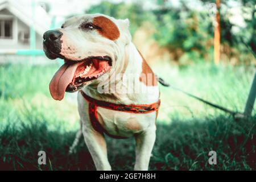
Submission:
[[[147,64],[147,62],[144,59],[144,57],[142,56],[141,52],[139,52],[139,54],[141,55],[142,60],[143,60],[142,61],[142,72],[141,72],[141,76],[139,77],[139,81],[143,82],[147,86],[156,86],[156,85],[158,85],[158,81],[155,77],[154,72],[152,71],[152,69]]]

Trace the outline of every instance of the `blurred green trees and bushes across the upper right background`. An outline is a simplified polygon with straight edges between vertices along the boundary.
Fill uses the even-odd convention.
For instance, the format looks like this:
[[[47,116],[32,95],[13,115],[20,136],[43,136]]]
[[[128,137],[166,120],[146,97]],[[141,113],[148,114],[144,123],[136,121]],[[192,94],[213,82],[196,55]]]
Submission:
[[[142,26],[143,22],[150,22],[154,34],[152,37],[164,48],[167,48],[172,59],[181,64],[213,59],[214,17],[208,11],[197,11],[181,0],[180,6],[172,6],[171,1],[158,0],[154,10],[144,9],[143,2],[111,3],[101,2],[90,7],[86,13],[102,13],[115,18],[129,18],[131,34]],[[207,7],[215,1],[198,0],[201,6]],[[221,44],[222,55],[229,61],[236,59],[236,63],[253,64],[253,54],[256,47],[255,0],[240,0],[245,27],[236,27],[230,22],[231,0],[221,1]],[[224,7],[224,8],[222,8]],[[238,31],[233,31],[233,29]],[[222,58],[223,59],[223,58]]]

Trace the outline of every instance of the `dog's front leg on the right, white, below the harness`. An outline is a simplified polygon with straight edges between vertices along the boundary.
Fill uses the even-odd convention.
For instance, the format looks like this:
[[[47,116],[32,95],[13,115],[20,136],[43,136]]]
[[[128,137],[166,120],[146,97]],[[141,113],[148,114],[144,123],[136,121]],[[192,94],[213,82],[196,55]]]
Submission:
[[[134,170],[147,171],[150,156],[155,143],[156,127],[152,126],[147,131],[135,136],[136,139],[136,162]]]

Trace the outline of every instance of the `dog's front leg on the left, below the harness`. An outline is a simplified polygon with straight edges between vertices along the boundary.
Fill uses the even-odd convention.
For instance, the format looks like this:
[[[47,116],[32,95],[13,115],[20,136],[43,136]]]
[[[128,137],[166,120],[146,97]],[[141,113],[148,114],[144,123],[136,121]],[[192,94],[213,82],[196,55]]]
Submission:
[[[82,126],[82,133],[96,169],[98,171],[111,170],[104,135],[85,125]]]

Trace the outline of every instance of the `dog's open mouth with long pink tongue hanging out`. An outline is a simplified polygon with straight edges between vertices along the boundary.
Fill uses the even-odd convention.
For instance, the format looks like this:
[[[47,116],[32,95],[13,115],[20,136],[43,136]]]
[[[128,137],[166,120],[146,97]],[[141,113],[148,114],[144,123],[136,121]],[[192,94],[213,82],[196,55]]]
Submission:
[[[49,84],[51,96],[55,100],[62,100],[65,92],[81,89],[86,82],[104,75],[112,66],[109,56],[92,56],[80,61],[64,59],[64,62]]]

